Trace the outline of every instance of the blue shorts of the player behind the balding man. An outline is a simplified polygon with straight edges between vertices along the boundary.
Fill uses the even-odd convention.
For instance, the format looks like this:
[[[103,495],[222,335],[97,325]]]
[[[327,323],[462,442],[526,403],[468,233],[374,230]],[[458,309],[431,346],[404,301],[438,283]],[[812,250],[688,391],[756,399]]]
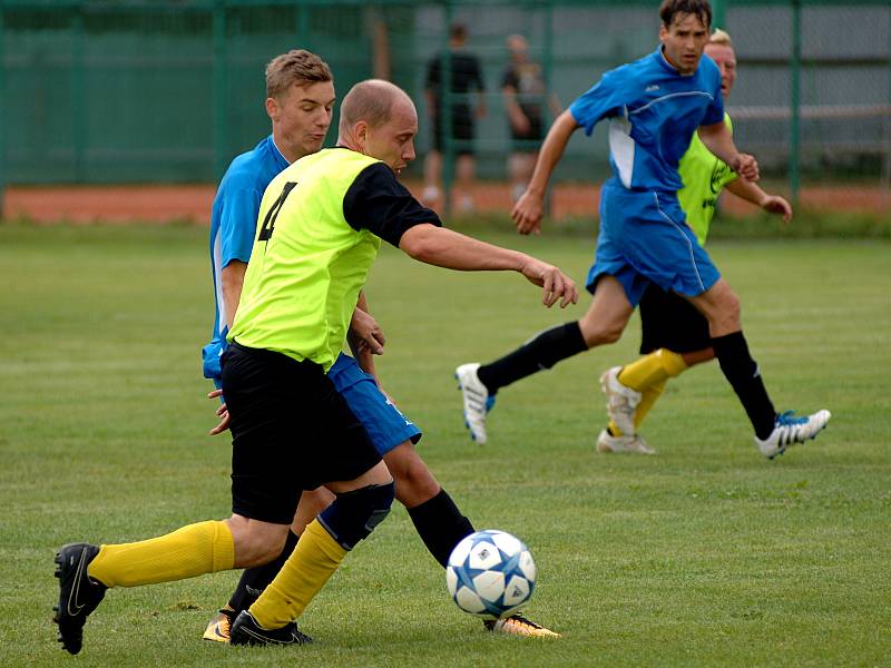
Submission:
[[[362,371],[353,357],[337,356],[327,377],[359,418],[381,456],[404,441],[421,440],[421,430],[390,403],[374,376]]]

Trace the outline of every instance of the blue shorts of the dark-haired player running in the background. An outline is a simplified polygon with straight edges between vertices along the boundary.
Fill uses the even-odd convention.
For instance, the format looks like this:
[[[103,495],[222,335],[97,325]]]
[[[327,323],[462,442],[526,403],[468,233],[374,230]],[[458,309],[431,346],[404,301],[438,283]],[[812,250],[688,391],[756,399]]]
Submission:
[[[686,224],[677,197],[655,190],[628,190],[615,179],[600,191],[600,234],[587,288],[604,274],[614,276],[637,306],[647,285],[701,295],[721,273]]]

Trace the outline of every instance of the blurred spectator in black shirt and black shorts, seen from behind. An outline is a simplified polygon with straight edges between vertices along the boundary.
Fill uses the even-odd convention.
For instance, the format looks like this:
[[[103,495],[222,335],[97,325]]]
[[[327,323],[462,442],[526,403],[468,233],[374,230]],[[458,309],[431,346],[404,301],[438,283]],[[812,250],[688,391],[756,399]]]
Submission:
[[[482,68],[479,58],[464,50],[467,45],[467,27],[453,23],[449,30],[449,53],[438,53],[428,63],[424,79],[424,95],[428,112],[433,120],[433,149],[424,158],[424,190],[421,199],[427,206],[438,207],[442,204],[440,179],[442,176],[442,150],[446,146],[447,118],[443,115],[442,62],[450,61],[449,91],[451,94],[451,131],[450,138],[456,161],[454,196],[458,208],[463,212],[473,209],[473,197],[470,188],[473,183],[473,136],[474,120],[486,116],[486,87],[482,82]],[[476,105],[471,95],[476,94]]]

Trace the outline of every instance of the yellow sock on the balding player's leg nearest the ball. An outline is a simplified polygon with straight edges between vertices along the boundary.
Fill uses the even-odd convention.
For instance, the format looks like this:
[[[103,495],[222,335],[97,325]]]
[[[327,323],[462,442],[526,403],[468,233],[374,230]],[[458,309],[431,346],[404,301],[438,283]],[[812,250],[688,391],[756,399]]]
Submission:
[[[264,629],[280,629],[294,621],[303,615],[344,557],[346,550],[331,538],[319,520],[313,520],[282,570],[251,606],[251,615]]]

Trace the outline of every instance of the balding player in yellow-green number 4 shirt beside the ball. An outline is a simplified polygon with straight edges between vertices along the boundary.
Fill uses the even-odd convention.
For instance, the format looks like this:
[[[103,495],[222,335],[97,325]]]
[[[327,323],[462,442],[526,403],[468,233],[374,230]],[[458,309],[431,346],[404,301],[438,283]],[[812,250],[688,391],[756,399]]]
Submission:
[[[235,619],[232,645],[309,641],[296,619],[341,561],[386,517],[395,489],[359,419],[325,375],[345,343],[381,240],[460,271],[516,271],[542,303],[578,302],[557,267],[441,227],[396,176],[414,159],[418,112],[382,80],[341,106],[337,148],[298,159],[263,196],[251,262],[223,357],[231,418],[232,515],[130,543],[69,543],[56,556],[62,647],[81,649],[106,590],[268,563],[303,490],[336,499],[304,530],[275,579]]]

